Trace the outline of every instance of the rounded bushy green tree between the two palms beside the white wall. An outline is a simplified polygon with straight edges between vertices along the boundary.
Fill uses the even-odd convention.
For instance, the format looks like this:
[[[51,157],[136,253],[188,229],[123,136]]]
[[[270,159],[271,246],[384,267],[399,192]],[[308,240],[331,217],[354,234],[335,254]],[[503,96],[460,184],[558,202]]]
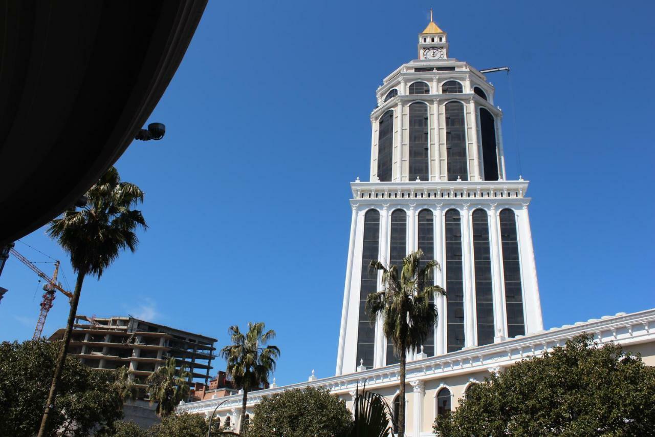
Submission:
[[[248,437],[331,437],[347,435],[352,415],[327,388],[294,388],[255,405]]]

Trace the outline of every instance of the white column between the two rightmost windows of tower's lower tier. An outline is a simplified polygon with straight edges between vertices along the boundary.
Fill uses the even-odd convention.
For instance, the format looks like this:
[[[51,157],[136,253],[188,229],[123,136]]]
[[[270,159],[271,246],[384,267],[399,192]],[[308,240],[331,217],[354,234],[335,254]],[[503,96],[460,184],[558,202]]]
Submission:
[[[500,222],[495,203],[489,209],[489,247],[491,247],[491,278],[493,286],[494,308],[494,341],[502,341],[507,337],[505,320],[505,300],[502,285],[502,245],[500,244]]]

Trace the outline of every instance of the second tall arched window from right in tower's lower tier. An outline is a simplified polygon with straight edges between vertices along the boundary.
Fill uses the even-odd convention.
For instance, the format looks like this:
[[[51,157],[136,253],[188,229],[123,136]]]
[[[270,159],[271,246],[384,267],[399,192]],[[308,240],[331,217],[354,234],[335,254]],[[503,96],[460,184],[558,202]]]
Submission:
[[[477,345],[493,343],[493,286],[487,211],[473,211],[473,256],[476,272]]]

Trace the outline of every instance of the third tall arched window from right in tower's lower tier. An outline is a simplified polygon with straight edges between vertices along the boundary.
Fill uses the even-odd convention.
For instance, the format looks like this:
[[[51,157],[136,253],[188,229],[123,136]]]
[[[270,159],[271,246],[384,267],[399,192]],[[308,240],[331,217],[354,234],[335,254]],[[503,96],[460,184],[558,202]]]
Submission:
[[[462,224],[457,209],[446,211],[447,349],[464,347],[464,282],[462,281]]]

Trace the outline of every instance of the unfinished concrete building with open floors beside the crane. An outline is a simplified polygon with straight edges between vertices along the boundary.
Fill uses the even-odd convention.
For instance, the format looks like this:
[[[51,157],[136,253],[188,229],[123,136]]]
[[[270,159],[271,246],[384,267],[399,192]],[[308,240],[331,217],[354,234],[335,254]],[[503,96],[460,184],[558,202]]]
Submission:
[[[50,341],[64,338],[58,329]],[[94,369],[117,369],[126,366],[145,395],[145,379],[169,357],[177,367],[186,365],[191,372],[189,383],[207,384],[214,358],[216,339],[172,327],[145,322],[132,316],[88,318],[76,316],[68,347],[69,354]]]

